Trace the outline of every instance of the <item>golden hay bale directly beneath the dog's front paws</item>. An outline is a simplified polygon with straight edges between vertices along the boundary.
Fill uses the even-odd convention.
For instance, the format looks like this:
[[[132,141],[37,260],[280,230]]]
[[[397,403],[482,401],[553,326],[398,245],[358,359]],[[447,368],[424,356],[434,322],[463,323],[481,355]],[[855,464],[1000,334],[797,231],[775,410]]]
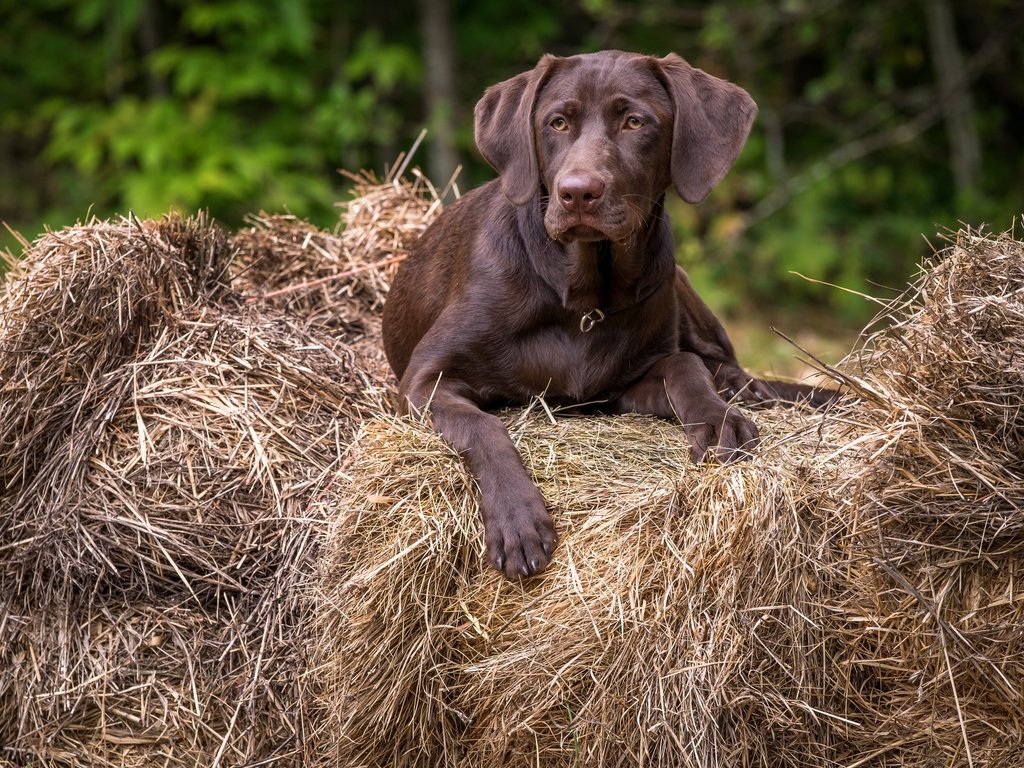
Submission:
[[[439,438],[368,423],[331,500],[350,512],[317,631],[325,762],[738,765],[734,741],[757,757],[813,739],[796,606],[819,544],[797,510],[835,470],[815,418],[762,416],[759,460],[700,469],[667,422],[511,416],[562,535],[522,586],[484,569],[471,482]]]

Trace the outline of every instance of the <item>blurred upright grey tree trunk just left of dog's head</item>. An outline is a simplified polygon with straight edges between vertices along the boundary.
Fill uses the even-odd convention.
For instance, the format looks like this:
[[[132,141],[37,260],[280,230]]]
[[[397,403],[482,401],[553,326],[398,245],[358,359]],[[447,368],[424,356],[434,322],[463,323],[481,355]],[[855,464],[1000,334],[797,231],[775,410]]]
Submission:
[[[455,49],[449,0],[419,0],[423,60],[426,67],[426,109],[429,135],[428,167],[431,180],[443,186],[459,165],[455,121]]]

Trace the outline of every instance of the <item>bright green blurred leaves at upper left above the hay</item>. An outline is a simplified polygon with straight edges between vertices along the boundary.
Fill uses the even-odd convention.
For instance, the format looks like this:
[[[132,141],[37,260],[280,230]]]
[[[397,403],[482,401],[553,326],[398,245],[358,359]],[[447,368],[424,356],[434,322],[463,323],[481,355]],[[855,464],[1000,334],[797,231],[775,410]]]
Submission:
[[[18,172],[59,193],[28,205],[3,199],[5,218],[208,208],[238,224],[266,208],[332,223],[336,169],[370,161],[348,147],[369,136],[397,146],[415,133],[388,95],[420,77],[414,48],[377,29],[342,49],[332,34],[344,20],[318,0],[22,9],[14,39],[26,44],[7,56],[24,77],[5,86],[2,128],[38,147]],[[145,45],[147,23],[159,29]]]

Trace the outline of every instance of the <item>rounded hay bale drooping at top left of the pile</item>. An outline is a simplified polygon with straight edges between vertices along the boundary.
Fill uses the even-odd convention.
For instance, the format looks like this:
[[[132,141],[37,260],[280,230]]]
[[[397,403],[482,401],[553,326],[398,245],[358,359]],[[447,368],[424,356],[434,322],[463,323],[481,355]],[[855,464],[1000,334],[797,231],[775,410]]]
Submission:
[[[117,371],[175,312],[219,300],[228,261],[204,216],[93,221],[40,238],[0,293],[0,488],[25,487],[72,432],[81,460],[81,422],[117,400]]]

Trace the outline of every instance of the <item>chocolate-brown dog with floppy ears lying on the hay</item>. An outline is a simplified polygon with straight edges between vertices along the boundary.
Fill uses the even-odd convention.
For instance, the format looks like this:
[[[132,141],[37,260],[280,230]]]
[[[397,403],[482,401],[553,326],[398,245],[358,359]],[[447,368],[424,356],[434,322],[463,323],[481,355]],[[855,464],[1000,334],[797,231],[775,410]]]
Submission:
[[[451,205],[402,264],[384,344],[402,408],[476,477],[490,564],[543,570],[557,536],[504,426],[483,409],[602,401],[682,422],[694,461],[757,443],[745,402],[826,398],[752,379],[678,268],[670,185],[699,203],[742,148],[745,91],[665,58],[544,56],[476,105],[476,143],[500,174]]]

